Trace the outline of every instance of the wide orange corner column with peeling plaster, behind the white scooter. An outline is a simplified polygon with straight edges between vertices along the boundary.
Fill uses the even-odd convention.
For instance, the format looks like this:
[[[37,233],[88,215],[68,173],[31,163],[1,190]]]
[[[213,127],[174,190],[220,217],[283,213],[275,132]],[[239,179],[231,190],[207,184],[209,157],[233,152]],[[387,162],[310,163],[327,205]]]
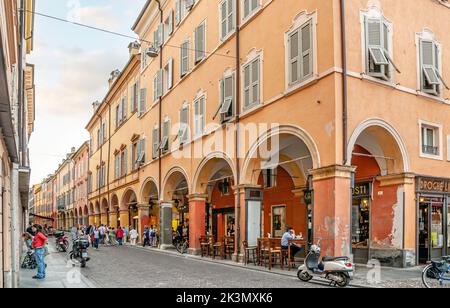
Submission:
[[[314,187],[314,244],[322,255],[351,254],[351,180],[354,167],[333,165],[312,171]]]

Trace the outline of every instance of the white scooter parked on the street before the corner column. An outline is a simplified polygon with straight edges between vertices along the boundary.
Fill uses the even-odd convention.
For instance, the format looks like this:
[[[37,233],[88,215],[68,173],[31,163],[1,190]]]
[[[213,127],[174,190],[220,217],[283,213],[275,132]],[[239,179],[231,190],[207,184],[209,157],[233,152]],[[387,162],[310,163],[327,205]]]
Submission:
[[[330,281],[330,285],[345,288],[353,279],[355,267],[348,257],[320,259],[320,243],[312,245],[306,256],[305,264],[298,268],[297,277],[303,282],[309,282],[313,278],[322,278]]]

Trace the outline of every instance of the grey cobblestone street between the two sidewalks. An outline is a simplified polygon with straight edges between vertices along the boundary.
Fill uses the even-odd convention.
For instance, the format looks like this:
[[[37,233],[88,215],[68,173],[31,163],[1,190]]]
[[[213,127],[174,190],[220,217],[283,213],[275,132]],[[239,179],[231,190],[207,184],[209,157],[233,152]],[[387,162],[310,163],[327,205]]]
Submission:
[[[98,287],[320,288],[296,277],[258,272],[131,247],[90,249],[82,274]]]

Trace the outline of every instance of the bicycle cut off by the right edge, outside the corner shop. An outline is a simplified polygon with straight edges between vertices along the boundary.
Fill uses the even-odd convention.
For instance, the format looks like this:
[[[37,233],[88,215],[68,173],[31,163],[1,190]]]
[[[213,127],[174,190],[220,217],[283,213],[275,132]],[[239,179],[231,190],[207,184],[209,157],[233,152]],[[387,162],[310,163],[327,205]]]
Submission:
[[[422,283],[427,289],[450,288],[450,256],[427,265],[422,272]]]

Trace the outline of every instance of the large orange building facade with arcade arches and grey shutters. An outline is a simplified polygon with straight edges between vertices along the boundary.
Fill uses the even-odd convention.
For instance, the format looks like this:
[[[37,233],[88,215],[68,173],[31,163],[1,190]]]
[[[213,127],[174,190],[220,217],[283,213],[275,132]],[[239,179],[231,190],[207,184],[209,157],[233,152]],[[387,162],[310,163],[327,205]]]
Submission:
[[[358,263],[448,254],[449,17],[427,0],[148,1],[86,127],[88,223],[155,225],[163,249],[182,225],[192,253],[234,236],[237,261],[289,226]]]

